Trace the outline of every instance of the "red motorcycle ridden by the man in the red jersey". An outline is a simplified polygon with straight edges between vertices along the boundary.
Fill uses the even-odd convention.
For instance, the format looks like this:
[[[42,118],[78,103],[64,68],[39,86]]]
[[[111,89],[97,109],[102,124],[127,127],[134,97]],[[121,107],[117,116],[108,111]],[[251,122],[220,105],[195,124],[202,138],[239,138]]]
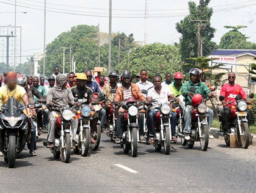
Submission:
[[[254,94],[251,93],[249,98],[253,98]],[[220,101],[225,99],[224,96],[219,97]],[[247,103],[242,100],[240,95],[236,96],[236,102],[230,101],[227,104],[223,105],[223,107],[234,104],[230,108],[230,117],[229,117],[229,133],[224,133],[223,130],[223,122],[222,117],[219,117],[219,121],[221,122],[219,135],[224,136],[224,140],[227,146],[230,146],[230,134],[236,134],[237,142],[241,144],[242,148],[247,149],[250,143],[250,130],[247,120],[247,109],[251,108],[251,106],[247,106]]]

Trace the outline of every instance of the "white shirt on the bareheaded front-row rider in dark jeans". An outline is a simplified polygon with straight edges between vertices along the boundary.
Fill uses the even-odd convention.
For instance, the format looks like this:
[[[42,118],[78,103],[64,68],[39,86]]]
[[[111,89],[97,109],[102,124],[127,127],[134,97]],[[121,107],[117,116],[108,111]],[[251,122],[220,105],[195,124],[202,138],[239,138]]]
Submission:
[[[155,91],[155,87],[150,88],[148,90],[148,97],[152,97],[152,99],[155,99],[157,102],[160,103],[169,103],[168,97],[173,94],[171,89],[169,89],[168,87],[163,87],[160,91],[160,94],[157,93],[157,91]],[[152,108],[157,108],[160,107],[159,104],[157,102],[154,102],[152,105]]]

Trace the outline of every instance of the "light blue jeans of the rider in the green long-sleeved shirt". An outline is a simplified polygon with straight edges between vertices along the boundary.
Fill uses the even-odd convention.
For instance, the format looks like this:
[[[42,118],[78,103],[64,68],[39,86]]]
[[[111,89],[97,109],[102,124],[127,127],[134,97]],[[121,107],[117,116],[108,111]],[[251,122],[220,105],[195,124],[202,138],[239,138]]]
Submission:
[[[184,110],[184,121],[185,121],[185,133],[191,132],[191,119],[192,119],[192,110],[194,108],[190,105],[187,105]],[[209,114],[207,116],[207,122],[208,122],[208,128],[210,130],[212,126],[212,119],[213,119],[213,111],[212,109],[207,107],[206,114]]]

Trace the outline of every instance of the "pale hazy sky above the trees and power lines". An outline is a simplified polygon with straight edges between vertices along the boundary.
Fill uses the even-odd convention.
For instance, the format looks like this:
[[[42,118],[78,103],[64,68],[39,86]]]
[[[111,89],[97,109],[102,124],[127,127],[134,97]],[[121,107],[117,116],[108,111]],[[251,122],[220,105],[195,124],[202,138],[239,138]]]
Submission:
[[[17,26],[22,28],[22,62],[26,61],[26,56],[43,53],[43,2],[44,0],[17,0]],[[175,23],[182,20],[188,13],[188,2],[188,0],[148,0],[148,14],[151,17],[147,20],[146,28],[148,43],[178,42],[180,34],[175,29]],[[195,0],[195,2],[198,3],[199,0]],[[108,32],[108,0],[47,0],[47,3],[56,4],[47,4],[48,10],[84,14],[74,15],[47,11],[47,44],[51,43],[58,34],[80,24],[97,26],[99,23],[100,31]],[[13,4],[14,0],[0,0],[0,26],[14,26],[15,6]],[[66,6],[58,6],[59,4]],[[256,43],[256,21],[254,20],[256,18],[256,0],[211,0],[209,6],[214,9],[211,25],[217,30],[213,41],[219,43],[221,36],[229,31],[224,26],[244,25],[247,28],[240,31],[250,37],[249,41]],[[112,9],[112,31],[122,31],[125,34],[133,33],[136,41],[143,42],[145,0],[112,0]],[[22,11],[27,13],[21,13]],[[165,16],[169,14],[169,17],[163,18],[163,14]],[[104,17],[95,17],[96,15]]]

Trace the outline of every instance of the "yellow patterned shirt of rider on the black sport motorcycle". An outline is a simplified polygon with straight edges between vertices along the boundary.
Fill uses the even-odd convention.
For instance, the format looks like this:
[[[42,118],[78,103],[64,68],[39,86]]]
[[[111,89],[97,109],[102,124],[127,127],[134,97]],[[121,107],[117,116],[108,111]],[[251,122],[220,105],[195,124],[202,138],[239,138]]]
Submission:
[[[21,104],[22,97],[26,94],[26,90],[23,87],[16,85],[16,88],[10,92],[7,85],[4,85],[0,88],[0,106],[4,105],[8,101],[9,97],[13,98],[14,92],[14,98]]]

